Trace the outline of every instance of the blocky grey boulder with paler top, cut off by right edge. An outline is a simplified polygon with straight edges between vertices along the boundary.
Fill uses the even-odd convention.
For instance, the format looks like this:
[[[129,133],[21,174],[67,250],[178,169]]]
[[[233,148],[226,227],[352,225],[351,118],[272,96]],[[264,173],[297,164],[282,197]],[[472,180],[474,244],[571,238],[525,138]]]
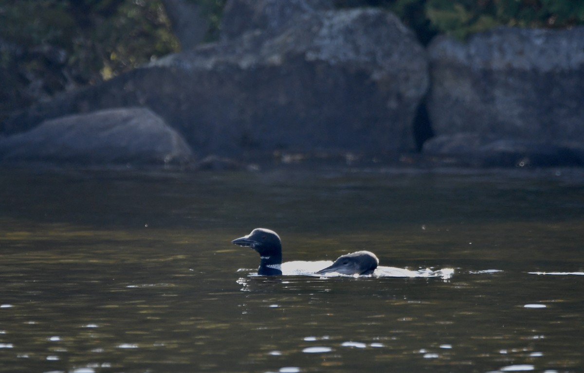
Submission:
[[[579,153],[584,144],[584,27],[501,27],[466,43],[440,36],[428,54],[432,87],[427,108],[439,139],[425,145],[427,152],[471,151],[473,141],[457,147],[470,134],[481,144],[480,152],[491,149],[495,158],[511,148],[531,158],[563,154],[558,149]],[[554,157],[572,163],[569,157],[565,162]]]

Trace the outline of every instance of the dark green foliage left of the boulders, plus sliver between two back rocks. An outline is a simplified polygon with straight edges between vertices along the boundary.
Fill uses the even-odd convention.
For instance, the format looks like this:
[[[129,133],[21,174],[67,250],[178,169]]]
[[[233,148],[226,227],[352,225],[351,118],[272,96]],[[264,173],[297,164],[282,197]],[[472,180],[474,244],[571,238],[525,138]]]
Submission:
[[[225,0],[196,2],[212,39]],[[161,0],[0,0],[0,121],[178,50]]]

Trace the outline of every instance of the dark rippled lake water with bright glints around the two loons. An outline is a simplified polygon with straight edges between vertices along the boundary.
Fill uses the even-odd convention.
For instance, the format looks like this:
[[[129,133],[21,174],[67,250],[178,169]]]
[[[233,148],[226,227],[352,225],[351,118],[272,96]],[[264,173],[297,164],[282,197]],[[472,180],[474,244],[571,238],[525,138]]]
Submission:
[[[584,371],[584,173],[0,173],[0,372]],[[366,249],[441,278],[249,276]],[[573,274],[532,274],[573,273]]]

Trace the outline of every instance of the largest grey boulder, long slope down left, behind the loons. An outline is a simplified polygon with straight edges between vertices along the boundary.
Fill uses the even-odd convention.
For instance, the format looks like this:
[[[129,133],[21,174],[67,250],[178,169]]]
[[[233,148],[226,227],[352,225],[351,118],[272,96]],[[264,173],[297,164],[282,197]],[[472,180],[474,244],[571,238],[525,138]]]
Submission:
[[[397,17],[378,9],[315,11],[287,25],[170,55],[40,103],[6,121],[3,131],[146,106],[199,156],[414,148],[411,125],[427,89],[427,62]]]

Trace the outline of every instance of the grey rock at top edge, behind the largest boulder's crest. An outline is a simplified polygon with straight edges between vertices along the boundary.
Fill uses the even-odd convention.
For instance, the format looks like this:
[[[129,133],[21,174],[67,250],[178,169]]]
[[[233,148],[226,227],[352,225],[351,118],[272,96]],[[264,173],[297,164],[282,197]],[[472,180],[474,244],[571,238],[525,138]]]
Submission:
[[[245,32],[278,32],[300,16],[333,9],[332,0],[229,0],[221,18],[221,38],[235,39]]]

